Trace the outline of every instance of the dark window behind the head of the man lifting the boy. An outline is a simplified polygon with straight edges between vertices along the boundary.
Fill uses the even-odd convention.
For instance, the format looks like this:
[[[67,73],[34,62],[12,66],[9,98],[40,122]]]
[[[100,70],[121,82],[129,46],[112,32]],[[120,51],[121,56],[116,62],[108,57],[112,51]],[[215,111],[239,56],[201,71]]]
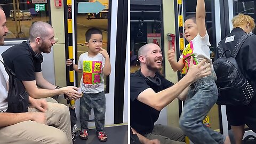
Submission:
[[[157,1],[160,3],[160,1]],[[157,4],[156,2],[156,4]],[[137,58],[141,46],[155,43],[162,49],[162,15],[159,5],[131,4],[131,69],[130,73],[139,69]],[[163,63],[164,65],[164,63]]]

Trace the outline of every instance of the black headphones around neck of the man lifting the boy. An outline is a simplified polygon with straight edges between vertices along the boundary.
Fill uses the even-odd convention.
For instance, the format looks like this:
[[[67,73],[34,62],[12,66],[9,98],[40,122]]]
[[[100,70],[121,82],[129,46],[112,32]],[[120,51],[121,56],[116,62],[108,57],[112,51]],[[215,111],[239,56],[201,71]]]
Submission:
[[[162,81],[159,77],[157,77],[157,73],[155,74],[155,77],[151,77],[151,76],[147,76],[145,77],[142,73],[141,70],[137,70],[135,71],[136,74],[142,76],[143,78],[145,78],[145,81],[147,82],[147,84],[151,87],[151,86],[160,86],[162,84]]]

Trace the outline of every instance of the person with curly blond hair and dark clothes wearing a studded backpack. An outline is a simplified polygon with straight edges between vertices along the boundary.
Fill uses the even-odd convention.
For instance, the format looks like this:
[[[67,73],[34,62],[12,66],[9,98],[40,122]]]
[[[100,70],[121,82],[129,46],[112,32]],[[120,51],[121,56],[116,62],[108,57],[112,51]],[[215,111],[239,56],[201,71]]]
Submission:
[[[235,47],[238,39],[244,33],[251,33],[255,27],[253,19],[249,15],[238,14],[231,22],[233,30],[226,38],[233,37],[233,41],[226,42],[227,47]],[[256,35],[249,36],[242,44],[236,55],[236,61],[242,74],[252,82],[255,90],[256,86]],[[218,59],[216,54],[215,59]],[[244,125],[250,127],[253,132],[256,132],[256,97],[254,96],[250,103],[246,106],[226,106],[226,114],[228,124],[231,125],[231,130],[234,133],[236,144],[241,144],[244,136]]]

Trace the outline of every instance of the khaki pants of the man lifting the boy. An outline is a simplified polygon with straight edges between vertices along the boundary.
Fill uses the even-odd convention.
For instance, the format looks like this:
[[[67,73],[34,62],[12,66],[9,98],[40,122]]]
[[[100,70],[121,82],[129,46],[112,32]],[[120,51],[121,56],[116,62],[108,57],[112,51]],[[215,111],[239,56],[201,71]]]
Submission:
[[[185,136],[178,127],[165,125],[155,125],[151,133],[145,135],[146,138],[153,140],[158,139],[161,144],[186,144]]]

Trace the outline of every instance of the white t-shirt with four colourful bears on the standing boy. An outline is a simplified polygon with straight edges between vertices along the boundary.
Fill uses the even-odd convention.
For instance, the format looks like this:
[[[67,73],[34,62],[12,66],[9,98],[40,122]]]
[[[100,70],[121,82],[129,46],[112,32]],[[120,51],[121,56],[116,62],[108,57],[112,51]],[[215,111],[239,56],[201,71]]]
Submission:
[[[99,93],[104,91],[104,79],[102,69],[105,58],[102,54],[89,57],[88,52],[80,55],[78,69],[83,70],[80,87],[83,93]]]

